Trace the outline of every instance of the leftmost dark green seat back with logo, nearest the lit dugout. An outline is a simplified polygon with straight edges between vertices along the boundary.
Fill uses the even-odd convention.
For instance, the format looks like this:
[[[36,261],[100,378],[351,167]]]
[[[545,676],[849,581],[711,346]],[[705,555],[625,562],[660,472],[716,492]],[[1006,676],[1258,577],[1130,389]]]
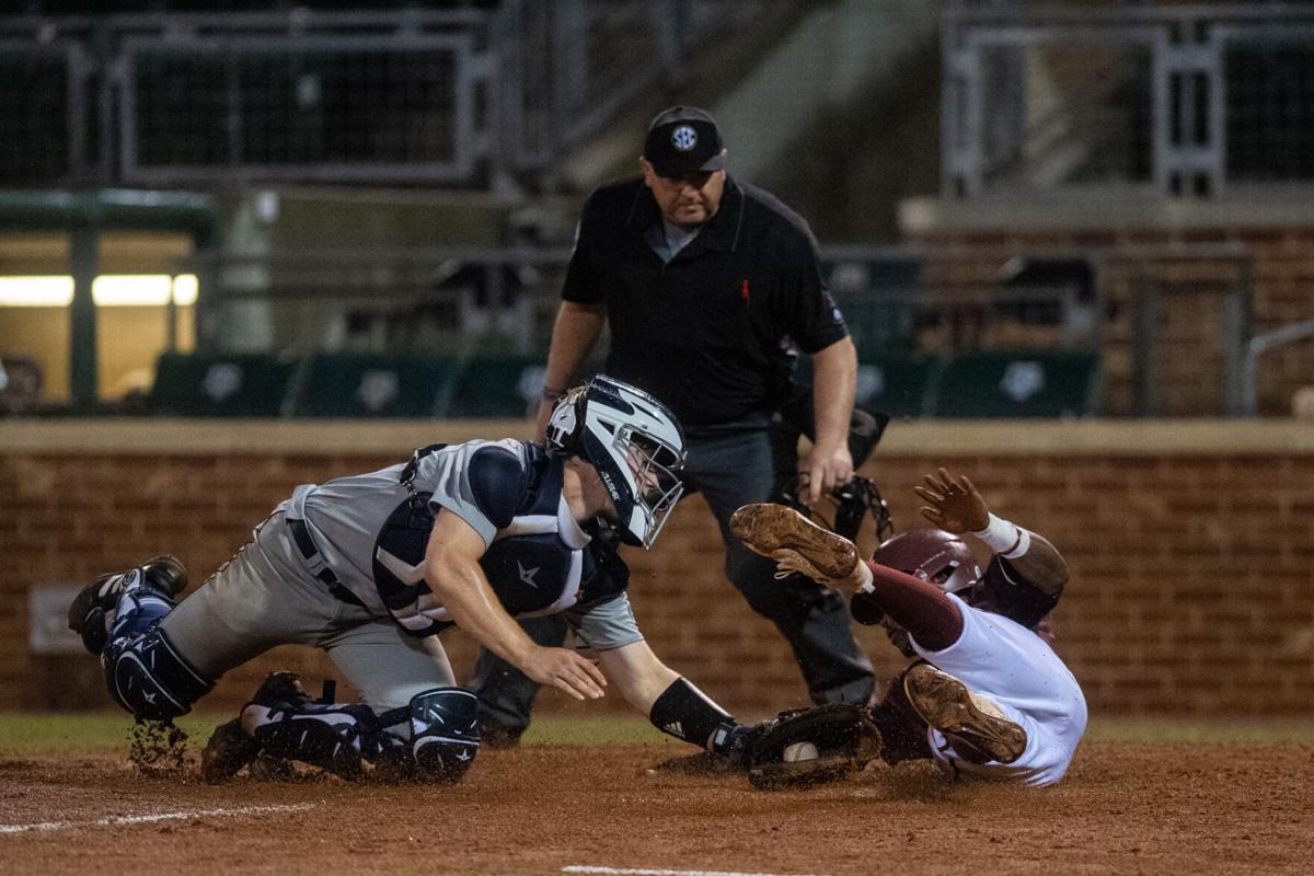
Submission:
[[[279,416],[297,361],[263,355],[163,353],[152,408],[176,416]]]

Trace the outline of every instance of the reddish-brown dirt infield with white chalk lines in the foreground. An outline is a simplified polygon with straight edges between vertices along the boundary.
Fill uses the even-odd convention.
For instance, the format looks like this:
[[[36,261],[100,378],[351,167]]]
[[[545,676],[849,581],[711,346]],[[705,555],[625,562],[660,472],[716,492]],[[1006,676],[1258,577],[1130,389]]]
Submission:
[[[12,873],[1307,873],[1314,746],[1083,746],[1058,787],[929,764],[756,792],[650,772],[673,745],[485,751],[451,788],[143,777],[118,756],[0,760]],[[566,868],[614,868],[568,871]]]

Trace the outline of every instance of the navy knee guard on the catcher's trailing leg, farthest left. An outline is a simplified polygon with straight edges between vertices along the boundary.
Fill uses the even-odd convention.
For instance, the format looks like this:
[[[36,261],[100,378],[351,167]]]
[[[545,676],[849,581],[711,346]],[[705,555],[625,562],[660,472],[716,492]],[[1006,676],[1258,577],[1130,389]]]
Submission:
[[[109,695],[139,718],[163,721],[187,714],[214,687],[159,626],[114,638],[102,659]]]

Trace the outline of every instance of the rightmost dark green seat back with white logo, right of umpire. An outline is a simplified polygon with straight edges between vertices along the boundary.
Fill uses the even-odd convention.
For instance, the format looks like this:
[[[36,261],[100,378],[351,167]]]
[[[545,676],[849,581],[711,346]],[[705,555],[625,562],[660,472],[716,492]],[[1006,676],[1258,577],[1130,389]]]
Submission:
[[[1100,360],[1092,352],[970,352],[945,365],[929,411],[945,418],[1092,416]]]

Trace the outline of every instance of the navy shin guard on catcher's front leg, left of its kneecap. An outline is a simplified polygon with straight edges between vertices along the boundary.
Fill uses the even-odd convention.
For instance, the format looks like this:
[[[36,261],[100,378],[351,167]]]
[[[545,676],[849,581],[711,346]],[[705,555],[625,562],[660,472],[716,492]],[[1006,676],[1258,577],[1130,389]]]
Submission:
[[[317,703],[292,672],[265,679],[242,709],[242,729],[260,754],[301,760],[344,779],[361,774],[361,755],[372,753],[378,720],[368,705]]]

